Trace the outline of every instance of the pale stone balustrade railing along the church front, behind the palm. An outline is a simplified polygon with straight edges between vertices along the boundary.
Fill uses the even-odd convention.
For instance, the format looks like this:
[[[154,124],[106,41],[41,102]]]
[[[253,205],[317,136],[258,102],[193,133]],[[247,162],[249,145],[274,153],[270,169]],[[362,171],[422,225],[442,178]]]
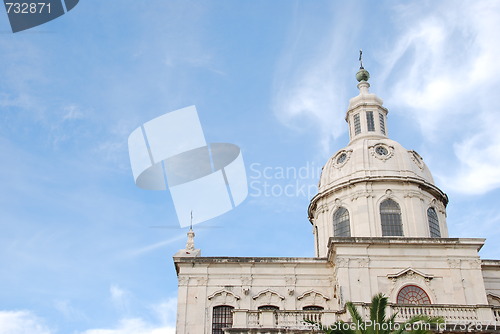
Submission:
[[[356,304],[359,313],[369,319],[370,305]],[[488,323],[500,326],[500,307],[468,305],[397,305],[390,304],[387,316],[396,315],[397,322],[405,322],[417,315],[442,317],[448,324]],[[347,312],[302,310],[241,310],[233,311],[233,328],[287,328],[305,329],[307,322],[330,325],[338,320],[350,321]]]

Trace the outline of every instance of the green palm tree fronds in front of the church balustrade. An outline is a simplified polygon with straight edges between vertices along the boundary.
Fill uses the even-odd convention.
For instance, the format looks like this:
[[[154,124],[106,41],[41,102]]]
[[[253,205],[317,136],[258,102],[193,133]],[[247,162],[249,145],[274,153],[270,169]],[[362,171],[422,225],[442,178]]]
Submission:
[[[351,315],[352,322],[338,321],[331,326],[314,325],[319,327],[320,331],[327,334],[428,334],[432,333],[429,330],[429,325],[437,325],[443,322],[442,318],[431,318],[421,315],[415,316],[402,324],[396,323],[395,318],[397,313],[387,318],[386,307],[387,297],[379,293],[372,298],[369,321],[363,319],[352,302],[347,302],[346,308]]]

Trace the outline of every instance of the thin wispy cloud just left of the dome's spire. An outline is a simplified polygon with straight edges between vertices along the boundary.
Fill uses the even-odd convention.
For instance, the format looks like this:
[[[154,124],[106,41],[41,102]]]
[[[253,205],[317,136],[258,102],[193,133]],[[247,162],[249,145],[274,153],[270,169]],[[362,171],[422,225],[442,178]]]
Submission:
[[[343,122],[347,96],[340,78],[348,72],[344,52],[354,50],[355,54],[352,37],[357,34],[357,25],[347,15],[356,11],[355,4],[330,10],[333,24],[317,31],[317,39],[311,40],[314,30],[324,26],[318,28],[317,16],[297,6],[294,29],[274,79],[276,116],[292,129],[318,133],[323,154],[331,153],[332,140],[347,129]]]

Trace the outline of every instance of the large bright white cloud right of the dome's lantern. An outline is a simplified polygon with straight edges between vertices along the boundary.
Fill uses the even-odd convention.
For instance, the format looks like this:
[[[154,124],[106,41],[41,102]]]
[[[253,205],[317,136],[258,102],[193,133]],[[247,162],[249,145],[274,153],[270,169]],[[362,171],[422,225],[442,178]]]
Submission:
[[[388,104],[418,122],[428,145],[453,147],[458,163],[433,172],[461,193],[500,186],[500,109],[491,103],[500,89],[500,43],[492,29],[499,21],[497,1],[399,6],[401,34],[381,57]]]

